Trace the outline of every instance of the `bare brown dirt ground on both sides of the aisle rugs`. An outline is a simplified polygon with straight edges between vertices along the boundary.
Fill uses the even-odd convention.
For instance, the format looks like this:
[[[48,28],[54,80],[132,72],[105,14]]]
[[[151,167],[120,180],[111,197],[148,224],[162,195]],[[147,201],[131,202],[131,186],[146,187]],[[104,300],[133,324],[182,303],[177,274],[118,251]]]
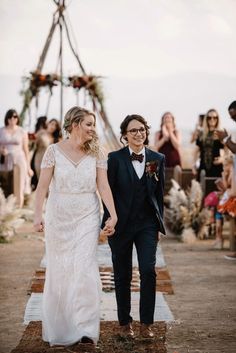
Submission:
[[[27,289],[44,252],[42,239],[25,230],[0,244],[0,353],[11,352],[23,334]],[[176,320],[168,325],[168,353],[236,352],[236,261],[211,245],[162,241],[175,291],[165,296]]]

